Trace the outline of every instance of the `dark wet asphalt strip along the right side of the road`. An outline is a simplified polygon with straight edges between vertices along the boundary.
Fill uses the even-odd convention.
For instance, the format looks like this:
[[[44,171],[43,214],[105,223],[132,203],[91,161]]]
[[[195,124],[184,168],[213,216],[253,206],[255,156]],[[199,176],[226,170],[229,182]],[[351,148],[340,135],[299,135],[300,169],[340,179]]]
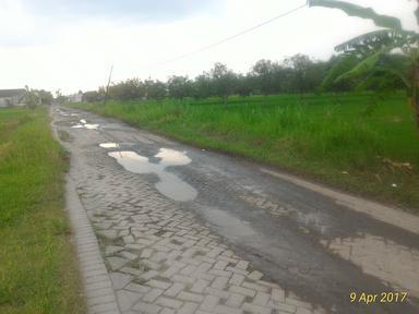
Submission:
[[[419,273],[412,270],[410,276],[406,276],[396,267],[390,277],[380,276],[383,270],[380,269],[383,267],[381,263],[390,257],[386,255],[388,252],[394,253],[391,261],[396,262],[393,263],[407,265],[409,269],[419,268],[416,264],[419,261],[419,234],[272,177],[262,172],[259,165],[240,158],[193,148],[89,112],[60,110],[53,113],[63,116],[56,122],[58,129],[70,130],[69,126],[80,125],[80,119],[85,119],[88,125],[98,124],[97,130],[77,126],[71,129],[71,136],[83,137],[88,136],[88,132],[99,132],[104,143],[118,144],[104,149],[103,154],[134,152],[148,158],[151,164],[158,164],[160,158],[156,155],[163,147],[185,152],[191,162],[165,168],[196,192],[193,200],[180,202],[182,207],[196,213],[202,222],[222,235],[227,244],[249,258],[270,279],[302,300],[321,305],[331,313],[419,313],[416,290]],[[117,162],[110,156],[109,160]],[[159,181],[153,171],[139,176],[152,182]],[[372,245],[362,244],[367,238],[374,239]],[[354,258],[350,256],[354,249],[350,241],[361,243],[357,247],[363,247]],[[345,258],[346,253],[338,254],[340,251],[332,250],[331,243],[333,247],[340,243],[338,250],[344,252],[348,249],[345,252],[349,252],[349,256]],[[348,247],[345,243],[349,243]],[[376,249],[374,252],[379,246],[374,243],[383,243],[383,247],[391,243],[391,249]],[[398,255],[397,252],[402,251],[404,254]],[[367,254],[369,259],[362,259]],[[376,261],[376,264],[371,261]],[[385,267],[388,271],[393,269],[392,265]],[[392,282],[388,278],[395,280]],[[396,291],[408,291],[407,302],[380,302],[382,292]],[[368,305],[364,302],[350,303],[351,292],[380,297]]]

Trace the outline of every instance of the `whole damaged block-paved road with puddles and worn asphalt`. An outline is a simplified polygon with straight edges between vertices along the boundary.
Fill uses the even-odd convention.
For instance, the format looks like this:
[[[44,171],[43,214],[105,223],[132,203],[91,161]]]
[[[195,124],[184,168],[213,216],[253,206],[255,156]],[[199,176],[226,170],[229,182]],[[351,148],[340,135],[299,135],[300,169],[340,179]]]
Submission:
[[[98,279],[91,313],[419,312],[418,217],[374,217],[362,200],[355,210],[279,172],[89,112],[51,114],[117,300]],[[408,300],[350,303],[352,291]]]

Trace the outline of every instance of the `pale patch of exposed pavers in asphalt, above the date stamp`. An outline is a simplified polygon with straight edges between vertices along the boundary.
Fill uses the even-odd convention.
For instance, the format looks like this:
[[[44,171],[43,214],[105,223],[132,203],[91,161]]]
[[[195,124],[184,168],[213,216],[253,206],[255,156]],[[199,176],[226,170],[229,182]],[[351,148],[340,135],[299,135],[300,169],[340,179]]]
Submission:
[[[371,234],[322,244],[360,266],[366,274],[419,298],[419,251]]]

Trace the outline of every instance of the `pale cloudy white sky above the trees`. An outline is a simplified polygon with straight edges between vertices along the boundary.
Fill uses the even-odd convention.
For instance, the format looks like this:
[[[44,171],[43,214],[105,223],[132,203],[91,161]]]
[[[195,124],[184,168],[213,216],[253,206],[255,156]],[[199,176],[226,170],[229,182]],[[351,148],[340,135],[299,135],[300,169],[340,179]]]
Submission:
[[[416,1],[350,0],[397,16],[417,31]],[[63,94],[112,82],[194,77],[215,62],[247,73],[260,59],[296,53],[324,60],[334,47],[376,29],[371,21],[339,10],[303,8],[212,49],[306,0],[0,0],[0,89],[31,88]],[[417,4],[416,4],[417,5]],[[188,57],[166,62],[179,56]]]

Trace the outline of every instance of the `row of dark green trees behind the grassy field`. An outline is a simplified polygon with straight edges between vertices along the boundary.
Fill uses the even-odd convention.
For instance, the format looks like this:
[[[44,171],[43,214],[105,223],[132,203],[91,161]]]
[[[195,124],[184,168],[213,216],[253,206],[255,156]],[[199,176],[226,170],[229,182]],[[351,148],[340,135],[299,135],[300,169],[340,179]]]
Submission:
[[[393,58],[402,62],[400,57]],[[188,97],[204,99],[219,97],[224,104],[230,95],[247,97],[250,95],[273,95],[289,93],[349,92],[357,88],[399,89],[403,82],[391,73],[375,73],[369,80],[358,82],[344,80],[336,82],[335,76],[344,73],[358,62],[354,56],[333,56],[327,61],[313,60],[306,55],[296,55],[282,62],[262,59],[246,74],[235,73],[226,64],[215,63],[193,80],[188,76],[170,76],[167,82],[156,80],[130,78],[113,83],[109,88],[86,92],[83,100],[87,102],[135,99]]]

